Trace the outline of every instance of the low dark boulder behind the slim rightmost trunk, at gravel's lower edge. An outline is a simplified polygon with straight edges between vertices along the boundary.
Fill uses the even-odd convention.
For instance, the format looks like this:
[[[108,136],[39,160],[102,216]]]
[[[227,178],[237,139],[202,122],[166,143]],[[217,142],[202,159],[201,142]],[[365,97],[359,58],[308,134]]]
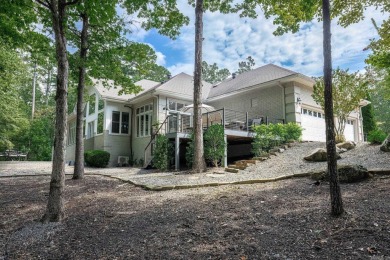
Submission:
[[[337,171],[341,183],[358,182],[369,177],[367,169],[361,165],[339,165]],[[329,181],[327,171],[313,172],[310,177],[317,181]]]

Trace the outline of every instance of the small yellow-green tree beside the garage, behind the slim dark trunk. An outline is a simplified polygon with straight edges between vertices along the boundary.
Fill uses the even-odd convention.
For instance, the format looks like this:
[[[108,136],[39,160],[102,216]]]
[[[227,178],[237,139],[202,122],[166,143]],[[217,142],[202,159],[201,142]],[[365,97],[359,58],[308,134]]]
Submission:
[[[358,108],[359,102],[367,95],[368,81],[365,77],[348,70],[336,69],[332,75],[333,114],[337,116],[336,135],[344,135],[345,124],[349,114]],[[313,99],[325,110],[324,79],[316,80],[313,90]]]

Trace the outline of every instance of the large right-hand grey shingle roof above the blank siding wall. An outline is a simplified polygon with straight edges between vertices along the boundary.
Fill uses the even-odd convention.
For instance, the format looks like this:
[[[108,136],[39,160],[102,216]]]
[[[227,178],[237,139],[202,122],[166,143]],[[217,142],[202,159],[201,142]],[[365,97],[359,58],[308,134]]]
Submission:
[[[298,72],[288,70],[274,64],[268,64],[257,69],[238,74],[234,79],[229,78],[210,90],[208,98],[214,98],[223,94],[239,91],[266,82],[283,79],[290,76],[303,77],[313,81],[311,78]]]

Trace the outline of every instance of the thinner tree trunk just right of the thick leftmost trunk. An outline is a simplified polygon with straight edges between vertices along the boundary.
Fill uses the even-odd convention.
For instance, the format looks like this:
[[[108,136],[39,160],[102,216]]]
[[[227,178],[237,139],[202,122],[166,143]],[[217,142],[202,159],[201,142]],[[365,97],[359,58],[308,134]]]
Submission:
[[[88,52],[88,15],[81,14],[83,19],[83,28],[80,38],[80,65],[79,65],[79,83],[77,86],[77,111],[76,111],[76,152],[73,179],[82,179],[84,177],[84,88],[85,88],[85,66]]]

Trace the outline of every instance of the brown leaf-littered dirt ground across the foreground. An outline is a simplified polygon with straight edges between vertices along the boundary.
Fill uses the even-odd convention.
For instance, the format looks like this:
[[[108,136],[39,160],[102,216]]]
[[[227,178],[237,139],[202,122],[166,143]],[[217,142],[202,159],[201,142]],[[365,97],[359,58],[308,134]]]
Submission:
[[[0,259],[390,259],[390,178],[329,187],[310,179],[151,192],[67,179],[66,219],[38,222],[49,177],[0,179]]]

